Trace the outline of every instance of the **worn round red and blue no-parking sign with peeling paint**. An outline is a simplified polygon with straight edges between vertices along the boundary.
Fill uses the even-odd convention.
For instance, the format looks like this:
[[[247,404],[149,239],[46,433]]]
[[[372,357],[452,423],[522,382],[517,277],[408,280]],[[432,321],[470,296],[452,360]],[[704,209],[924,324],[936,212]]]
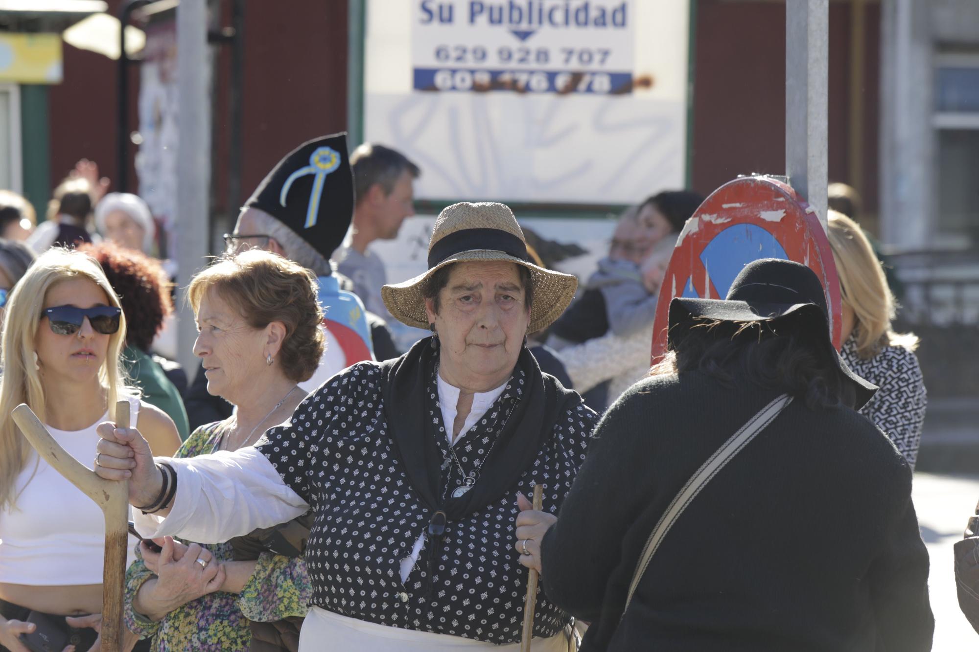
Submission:
[[[840,283],[816,211],[785,183],[752,176],[714,191],[676,239],[656,305],[653,363],[666,352],[674,297],[723,299],[741,268],[759,258],[795,260],[816,272],[826,292],[833,345],[839,349]]]

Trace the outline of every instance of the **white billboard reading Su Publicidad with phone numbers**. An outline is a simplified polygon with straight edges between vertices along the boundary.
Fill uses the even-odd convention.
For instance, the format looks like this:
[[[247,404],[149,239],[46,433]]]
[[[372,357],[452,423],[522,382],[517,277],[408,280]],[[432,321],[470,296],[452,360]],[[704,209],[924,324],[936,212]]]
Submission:
[[[369,0],[365,140],[416,199],[634,204],[685,185],[687,0]]]

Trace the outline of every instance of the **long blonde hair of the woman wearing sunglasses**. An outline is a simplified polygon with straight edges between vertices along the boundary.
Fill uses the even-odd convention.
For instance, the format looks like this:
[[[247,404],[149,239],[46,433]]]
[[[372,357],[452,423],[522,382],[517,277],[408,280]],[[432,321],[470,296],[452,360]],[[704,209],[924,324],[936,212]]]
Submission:
[[[3,377],[0,378],[0,509],[15,507],[15,482],[30,459],[30,444],[10,418],[11,411],[27,403],[37,418],[45,421],[46,401],[34,361],[34,336],[41,321],[44,299],[53,285],[72,278],[95,283],[121,309],[102,267],[91,257],[64,249],[38,256],[10,295],[3,319]],[[125,342],[125,315],[119,315],[119,330],[109,336],[109,350],[99,369],[99,383],[106,390],[111,419],[116,418],[116,401],[133,393],[126,387],[120,366]]]

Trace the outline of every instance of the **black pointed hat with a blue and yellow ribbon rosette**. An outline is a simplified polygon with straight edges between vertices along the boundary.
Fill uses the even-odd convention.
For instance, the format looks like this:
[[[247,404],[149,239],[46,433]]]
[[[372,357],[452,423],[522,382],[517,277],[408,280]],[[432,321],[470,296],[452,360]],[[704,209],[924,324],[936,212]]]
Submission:
[[[347,132],[314,138],[287,154],[245,206],[264,210],[329,258],[353,217]]]

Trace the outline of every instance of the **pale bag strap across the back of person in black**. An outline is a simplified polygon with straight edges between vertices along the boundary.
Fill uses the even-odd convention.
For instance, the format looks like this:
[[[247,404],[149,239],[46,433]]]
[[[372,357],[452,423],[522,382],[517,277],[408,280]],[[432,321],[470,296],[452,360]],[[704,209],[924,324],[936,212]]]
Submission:
[[[646,545],[642,549],[642,554],[639,555],[639,562],[635,566],[635,572],[632,574],[632,582],[629,583],[629,594],[626,597],[626,607],[623,609],[623,615],[625,615],[626,610],[629,609],[629,602],[632,601],[632,594],[635,593],[635,587],[638,586],[639,580],[642,579],[643,574],[646,572],[646,567],[649,566],[649,560],[653,558],[653,553],[656,549],[660,547],[660,543],[663,542],[663,537],[667,536],[670,532],[670,528],[676,523],[676,519],[679,518],[683,510],[686,509],[687,505],[697,497],[700,493],[700,489],[704,489],[714,478],[715,475],[724,465],[727,464],[734,455],[741,451],[749,442],[755,439],[755,436],[765,430],[766,426],[771,423],[771,421],[778,416],[782,410],[788,407],[788,404],[792,402],[792,396],[783,394],[772,400],[768,405],[763,407],[761,411],[753,416],[748,423],[744,424],[739,431],[734,433],[723,445],[715,451],[711,457],[704,462],[697,472],[686,482],[683,489],[674,497],[670,506],[660,517],[659,522],[653,529],[653,533],[646,539]]]

